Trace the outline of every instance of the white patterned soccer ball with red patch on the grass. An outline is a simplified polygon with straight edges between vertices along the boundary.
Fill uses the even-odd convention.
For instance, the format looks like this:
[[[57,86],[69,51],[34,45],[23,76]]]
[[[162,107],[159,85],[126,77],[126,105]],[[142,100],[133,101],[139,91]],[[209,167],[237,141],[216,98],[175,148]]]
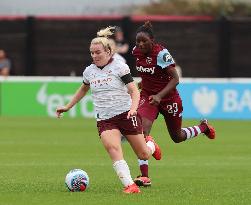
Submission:
[[[85,191],[89,185],[89,176],[82,169],[73,169],[65,177],[66,187],[72,191]]]

